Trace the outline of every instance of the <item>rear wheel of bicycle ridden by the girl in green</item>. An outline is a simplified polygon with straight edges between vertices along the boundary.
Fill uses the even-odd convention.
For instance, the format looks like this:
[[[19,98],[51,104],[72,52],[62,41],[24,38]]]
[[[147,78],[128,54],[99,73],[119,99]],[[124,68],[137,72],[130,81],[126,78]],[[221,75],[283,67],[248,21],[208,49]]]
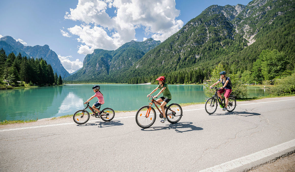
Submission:
[[[173,114],[173,112],[175,112],[176,114]],[[171,113],[173,115],[170,115]],[[172,103],[166,109],[165,114],[168,122],[172,124],[177,123],[182,117],[182,108],[179,104]]]

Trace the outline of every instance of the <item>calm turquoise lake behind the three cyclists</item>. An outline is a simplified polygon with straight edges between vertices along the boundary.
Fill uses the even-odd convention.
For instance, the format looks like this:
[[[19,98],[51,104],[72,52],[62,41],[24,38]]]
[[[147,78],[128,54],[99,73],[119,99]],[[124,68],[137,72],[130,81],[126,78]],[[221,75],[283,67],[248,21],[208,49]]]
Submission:
[[[91,84],[67,84],[64,86],[36,87],[26,89],[0,90],[0,120],[42,119],[73,114],[83,109],[83,102],[91,97]],[[117,111],[135,110],[148,104],[146,97],[156,85],[101,84],[105,104]],[[204,86],[169,85],[172,100],[169,103],[203,102]],[[156,95],[158,90],[153,94]],[[248,87],[249,97],[267,96],[265,89]],[[90,101],[94,104],[95,97]]]

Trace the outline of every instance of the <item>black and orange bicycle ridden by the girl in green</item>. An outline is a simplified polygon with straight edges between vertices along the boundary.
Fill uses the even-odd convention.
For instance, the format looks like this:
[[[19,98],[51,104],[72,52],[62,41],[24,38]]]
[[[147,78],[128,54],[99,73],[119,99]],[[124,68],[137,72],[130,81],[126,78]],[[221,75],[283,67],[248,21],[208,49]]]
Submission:
[[[136,112],[136,115],[135,115],[135,121],[136,121],[137,125],[142,128],[148,128],[148,127],[152,126],[156,120],[156,111],[152,107],[153,104],[155,104],[156,108],[160,112],[160,118],[163,118],[163,114],[156,104],[159,102],[155,101],[153,99],[154,96],[149,96],[149,97],[150,97],[149,101],[151,101],[149,103],[149,105],[143,106],[140,109],[138,109],[138,111]],[[157,97],[155,97],[155,98],[157,98]],[[172,103],[168,107],[165,105],[164,108],[166,109],[166,112],[165,112],[166,118],[170,123],[176,123],[181,119],[182,109],[179,104]]]

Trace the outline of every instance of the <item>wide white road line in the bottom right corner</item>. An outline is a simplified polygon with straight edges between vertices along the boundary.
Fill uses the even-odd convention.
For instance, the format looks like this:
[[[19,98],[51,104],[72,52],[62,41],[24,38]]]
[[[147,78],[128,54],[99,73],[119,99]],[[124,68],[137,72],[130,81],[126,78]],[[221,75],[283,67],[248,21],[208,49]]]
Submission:
[[[235,168],[241,167],[241,166],[245,166],[249,163],[253,163],[257,160],[260,160],[262,158],[266,158],[268,156],[274,155],[276,153],[280,153],[284,150],[287,150],[289,148],[295,147],[295,139],[294,140],[290,140],[288,142],[284,142],[280,145],[276,145],[273,146],[271,148],[265,149],[265,150],[261,150],[259,152],[241,157],[241,158],[237,158],[235,160],[231,160],[228,161],[226,163],[222,163],[219,164],[217,166],[214,167],[210,167],[210,168],[206,168],[204,170],[201,170],[199,172],[212,172],[212,171],[218,171],[218,172],[225,172],[225,171],[230,171],[233,170]]]

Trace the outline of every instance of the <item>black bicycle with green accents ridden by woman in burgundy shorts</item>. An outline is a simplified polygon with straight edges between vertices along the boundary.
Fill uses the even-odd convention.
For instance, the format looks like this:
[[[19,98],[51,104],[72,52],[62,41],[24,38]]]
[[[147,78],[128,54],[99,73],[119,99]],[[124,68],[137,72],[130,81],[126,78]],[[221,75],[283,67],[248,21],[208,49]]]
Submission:
[[[222,102],[217,94],[217,90],[219,90],[220,88],[212,87],[212,89],[216,89],[215,94],[211,98],[209,98],[205,103],[205,110],[208,114],[213,114],[216,111],[218,104],[221,108],[225,107],[225,99]],[[236,105],[237,105],[236,103],[237,102],[236,102],[235,96],[230,95],[228,98],[227,111],[232,112],[236,108]]]

